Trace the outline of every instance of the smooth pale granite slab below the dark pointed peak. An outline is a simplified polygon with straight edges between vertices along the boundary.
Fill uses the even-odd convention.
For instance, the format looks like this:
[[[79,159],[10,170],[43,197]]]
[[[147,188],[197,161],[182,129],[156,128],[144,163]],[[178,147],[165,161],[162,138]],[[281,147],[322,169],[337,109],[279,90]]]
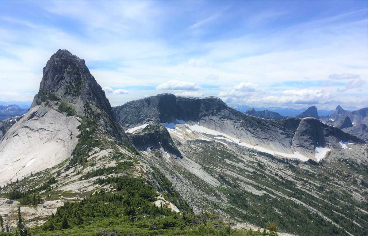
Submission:
[[[31,108],[0,141],[0,186],[69,158],[78,143],[79,124],[54,108]]]

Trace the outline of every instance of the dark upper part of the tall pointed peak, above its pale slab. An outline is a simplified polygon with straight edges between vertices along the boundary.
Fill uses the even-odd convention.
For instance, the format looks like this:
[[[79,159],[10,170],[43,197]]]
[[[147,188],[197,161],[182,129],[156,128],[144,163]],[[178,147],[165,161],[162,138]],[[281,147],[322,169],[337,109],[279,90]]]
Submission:
[[[110,135],[127,140],[123,129],[115,120],[114,112],[105,92],[91,75],[85,61],[68,50],[57,50],[43,68],[40,89],[31,108],[47,102],[71,107],[79,117],[95,117]],[[93,115],[92,115],[93,114]]]

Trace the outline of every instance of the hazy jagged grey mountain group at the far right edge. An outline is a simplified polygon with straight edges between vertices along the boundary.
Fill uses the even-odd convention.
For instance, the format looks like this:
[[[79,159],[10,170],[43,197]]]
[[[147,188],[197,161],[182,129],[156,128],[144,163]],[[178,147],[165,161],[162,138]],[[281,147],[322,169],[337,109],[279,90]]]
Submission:
[[[337,106],[331,115],[319,117],[319,120],[326,124],[339,127],[343,129],[344,132],[368,141],[368,130],[365,129],[365,126],[368,125],[367,107],[356,111],[345,111],[341,106]]]

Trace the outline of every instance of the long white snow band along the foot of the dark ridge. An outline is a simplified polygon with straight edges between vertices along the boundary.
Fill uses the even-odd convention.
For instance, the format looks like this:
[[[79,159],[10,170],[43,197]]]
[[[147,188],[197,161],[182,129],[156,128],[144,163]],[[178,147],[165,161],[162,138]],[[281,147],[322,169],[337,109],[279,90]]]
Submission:
[[[308,117],[307,119],[310,119],[310,118]],[[241,142],[241,140],[236,138],[236,137],[231,137],[231,136],[229,136],[225,133],[221,133],[221,132],[218,132],[216,130],[208,129],[204,126],[201,126],[198,122],[197,122],[197,124],[190,124],[189,125],[185,121],[180,121],[178,119],[176,119],[176,121],[177,121],[178,124],[174,124],[173,122],[171,122],[171,123],[162,123],[162,125],[167,128],[170,135],[174,136],[174,138],[176,138],[176,139],[183,139],[184,137],[187,137],[188,139],[193,139],[193,137],[195,137],[197,139],[203,139],[203,140],[215,140],[216,142],[220,142],[219,139],[223,139],[223,140],[227,140],[229,142],[234,142],[234,143],[237,143],[238,145],[248,147],[248,148],[251,148],[251,149],[255,149],[255,150],[258,150],[258,151],[261,151],[261,152],[264,152],[264,153],[268,153],[268,154],[271,154],[271,155],[279,155],[279,156],[286,157],[286,158],[296,158],[296,159],[301,160],[301,161],[308,161],[308,159],[309,159],[308,157],[305,157],[304,155],[300,154],[297,151],[294,151],[293,154],[282,153],[282,152],[269,150],[269,149],[266,149],[266,148],[261,147],[261,146],[256,146],[256,145],[251,145],[251,144],[248,144],[248,143],[244,143],[244,142]],[[193,131],[198,132],[200,135],[198,135],[198,134],[195,135],[193,133]],[[205,136],[203,134],[214,135],[216,137],[215,137],[215,139],[213,139],[213,138],[210,138],[210,137]],[[217,137],[217,136],[219,136],[219,137]],[[220,143],[223,143],[223,142],[220,142]],[[225,144],[225,143],[223,143],[223,144]],[[316,148],[316,154],[315,154],[316,160],[320,161],[322,158],[325,157],[326,153],[330,150],[331,149],[328,149],[328,148],[317,147]]]

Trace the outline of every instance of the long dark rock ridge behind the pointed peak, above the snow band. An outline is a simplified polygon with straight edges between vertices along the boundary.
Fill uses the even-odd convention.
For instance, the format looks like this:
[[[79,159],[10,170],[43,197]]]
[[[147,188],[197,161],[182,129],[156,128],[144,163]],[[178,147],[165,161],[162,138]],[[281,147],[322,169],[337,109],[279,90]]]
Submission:
[[[183,120],[216,130],[241,142],[282,153],[294,151],[313,158],[318,146],[339,147],[340,140],[364,141],[340,129],[313,119],[262,119],[236,111],[216,97],[204,99],[159,94],[114,107],[124,128],[148,122],[155,124]],[[350,141],[347,141],[350,140]]]

